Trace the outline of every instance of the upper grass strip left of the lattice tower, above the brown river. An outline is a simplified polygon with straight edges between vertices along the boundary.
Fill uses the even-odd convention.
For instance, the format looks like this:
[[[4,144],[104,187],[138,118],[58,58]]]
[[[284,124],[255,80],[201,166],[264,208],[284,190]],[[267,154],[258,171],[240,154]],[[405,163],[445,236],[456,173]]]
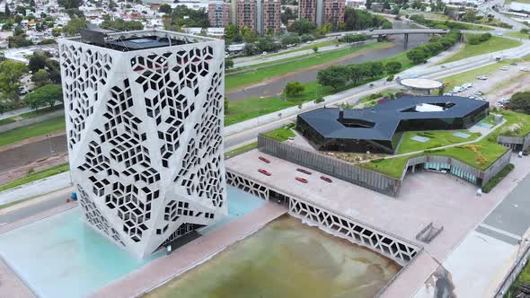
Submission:
[[[31,124],[26,127],[15,128],[0,134],[0,146],[13,144],[33,136],[56,133],[65,129],[66,122],[63,116],[51,118],[40,123]]]

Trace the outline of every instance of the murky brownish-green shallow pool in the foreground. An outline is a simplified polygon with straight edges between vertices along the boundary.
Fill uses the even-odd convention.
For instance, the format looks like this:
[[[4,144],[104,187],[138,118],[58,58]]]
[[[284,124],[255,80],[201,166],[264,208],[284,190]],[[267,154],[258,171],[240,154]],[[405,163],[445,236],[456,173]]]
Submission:
[[[400,266],[288,215],[147,297],[373,297]]]

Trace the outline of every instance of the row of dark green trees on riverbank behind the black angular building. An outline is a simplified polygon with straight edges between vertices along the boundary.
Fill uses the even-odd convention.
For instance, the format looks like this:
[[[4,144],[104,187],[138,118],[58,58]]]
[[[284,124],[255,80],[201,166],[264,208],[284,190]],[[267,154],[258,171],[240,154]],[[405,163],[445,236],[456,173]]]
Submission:
[[[358,84],[384,74],[397,74],[401,69],[402,64],[396,61],[385,65],[382,62],[367,62],[350,66],[330,66],[319,71],[316,78],[322,86],[331,86],[338,90],[349,83]]]

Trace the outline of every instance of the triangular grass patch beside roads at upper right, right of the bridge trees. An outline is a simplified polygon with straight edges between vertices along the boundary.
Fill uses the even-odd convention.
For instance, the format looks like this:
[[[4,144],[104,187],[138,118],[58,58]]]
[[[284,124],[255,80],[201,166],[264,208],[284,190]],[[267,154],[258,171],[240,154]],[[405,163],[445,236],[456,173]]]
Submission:
[[[466,34],[468,36],[469,34]],[[504,39],[498,36],[492,36],[489,40],[482,42],[478,45],[465,44],[464,48],[458,51],[455,55],[446,58],[443,63],[454,62],[462,60],[464,58],[475,57],[482,54],[488,54],[492,52],[497,52],[499,50],[507,48],[515,48],[521,45],[521,42],[514,39]]]

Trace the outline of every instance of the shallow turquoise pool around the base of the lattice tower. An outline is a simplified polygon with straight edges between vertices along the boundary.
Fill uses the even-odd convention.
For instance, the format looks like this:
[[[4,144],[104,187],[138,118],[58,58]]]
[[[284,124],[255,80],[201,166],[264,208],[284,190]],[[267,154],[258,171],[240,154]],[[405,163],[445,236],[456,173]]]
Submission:
[[[263,204],[228,187],[228,216],[219,226]],[[78,207],[0,234],[0,255],[40,297],[84,297],[159,258],[136,259],[81,221]]]

